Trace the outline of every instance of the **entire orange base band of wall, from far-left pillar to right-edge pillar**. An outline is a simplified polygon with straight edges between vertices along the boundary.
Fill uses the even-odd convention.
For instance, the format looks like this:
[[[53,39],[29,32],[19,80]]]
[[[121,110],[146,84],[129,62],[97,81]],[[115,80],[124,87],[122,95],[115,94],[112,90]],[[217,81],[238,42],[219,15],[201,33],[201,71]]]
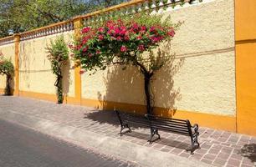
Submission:
[[[0,89],[1,90],[1,89]],[[34,92],[20,91],[20,96],[43,99],[56,103],[57,98],[54,94],[41,94]],[[73,97],[64,99],[64,104],[78,104],[77,100]],[[113,110],[120,109],[127,112],[136,112],[144,114],[146,111],[145,105],[140,104],[125,104],[116,102],[100,101],[95,99],[81,99],[81,105],[86,107],[92,107],[95,109]],[[218,114],[204,114],[198,112],[189,112],[177,110],[172,112],[170,109],[156,108],[155,113],[163,117],[175,118],[175,119],[189,119],[192,124],[199,124],[199,127],[208,127],[213,129],[228,130],[230,132],[236,132],[236,118],[227,115]]]

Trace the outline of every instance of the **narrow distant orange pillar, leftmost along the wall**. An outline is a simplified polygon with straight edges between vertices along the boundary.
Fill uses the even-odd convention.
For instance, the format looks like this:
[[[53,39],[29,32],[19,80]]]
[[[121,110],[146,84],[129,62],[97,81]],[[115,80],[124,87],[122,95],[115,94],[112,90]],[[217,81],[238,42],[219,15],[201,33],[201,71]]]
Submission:
[[[20,43],[20,35],[14,35],[14,45],[15,45],[15,65],[14,65],[14,73],[15,73],[15,91],[14,95],[18,95],[19,90],[19,43]]]

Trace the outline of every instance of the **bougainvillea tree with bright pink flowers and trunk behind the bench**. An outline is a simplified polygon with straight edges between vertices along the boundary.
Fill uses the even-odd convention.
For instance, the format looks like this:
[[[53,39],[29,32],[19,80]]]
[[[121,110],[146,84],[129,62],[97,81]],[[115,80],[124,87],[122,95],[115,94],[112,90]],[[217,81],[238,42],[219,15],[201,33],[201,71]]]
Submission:
[[[146,109],[152,114],[151,78],[165,63],[164,58],[151,54],[153,48],[175,35],[179,23],[169,23],[170,18],[161,19],[160,15],[137,13],[131,16],[119,15],[81,30],[81,38],[69,47],[73,50],[74,60],[84,71],[95,73],[110,64],[120,64],[124,68],[134,65],[144,76]],[[144,53],[150,53],[145,56]]]

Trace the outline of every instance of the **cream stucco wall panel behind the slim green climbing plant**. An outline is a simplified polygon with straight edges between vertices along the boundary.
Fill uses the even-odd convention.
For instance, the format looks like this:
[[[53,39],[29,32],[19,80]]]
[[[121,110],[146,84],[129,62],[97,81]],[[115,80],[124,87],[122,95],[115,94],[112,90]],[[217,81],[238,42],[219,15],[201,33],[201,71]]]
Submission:
[[[63,33],[67,43],[72,40],[73,32]],[[51,71],[51,65],[47,58],[46,47],[50,40],[54,40],[59,34],[43,38],[34,38],[20,43],[19,55],[19,89],[21,91],[55,94],[54,82],[56,80]],[[64,94],[74,97],[74,69],[73,63],[64,68]]]

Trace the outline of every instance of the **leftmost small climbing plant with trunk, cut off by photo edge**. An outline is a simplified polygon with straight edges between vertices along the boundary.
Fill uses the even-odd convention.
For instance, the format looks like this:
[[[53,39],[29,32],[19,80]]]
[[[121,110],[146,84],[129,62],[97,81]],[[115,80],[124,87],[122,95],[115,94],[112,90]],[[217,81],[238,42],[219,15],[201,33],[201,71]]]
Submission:
[[[13,80],[14,67],[10,59],[4,58],[3,53],[0,52],[0,74],[6,75],[6,88],[4,94],[12,95],[12,86],[11,82]]]

